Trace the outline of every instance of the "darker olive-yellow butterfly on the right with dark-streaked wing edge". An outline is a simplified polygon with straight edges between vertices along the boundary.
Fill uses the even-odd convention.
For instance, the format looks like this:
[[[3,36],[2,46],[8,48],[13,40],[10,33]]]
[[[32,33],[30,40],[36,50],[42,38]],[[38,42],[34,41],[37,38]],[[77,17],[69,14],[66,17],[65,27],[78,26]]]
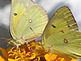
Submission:
[[[42,44],[53,53],[81,58],[81,32],[67,6],[57,9],[48,22],[43,32]]]

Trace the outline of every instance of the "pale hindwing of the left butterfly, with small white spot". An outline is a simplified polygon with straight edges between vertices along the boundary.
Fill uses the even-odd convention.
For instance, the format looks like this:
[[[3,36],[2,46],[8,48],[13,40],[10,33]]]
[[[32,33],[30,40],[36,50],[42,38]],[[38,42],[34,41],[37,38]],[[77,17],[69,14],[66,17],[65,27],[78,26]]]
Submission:
[[[38,5],[35,5],[28,10],[24,17],[26,19],[21,19],[17,25],[17,34],[19,36],[23,36],[24,39],[31,39],[41,36],[48,22],[46,12]],[[23,28],[21,28],[21,26],[23,26]],[[19,32],[20,29],[22,30],[21,32]]]

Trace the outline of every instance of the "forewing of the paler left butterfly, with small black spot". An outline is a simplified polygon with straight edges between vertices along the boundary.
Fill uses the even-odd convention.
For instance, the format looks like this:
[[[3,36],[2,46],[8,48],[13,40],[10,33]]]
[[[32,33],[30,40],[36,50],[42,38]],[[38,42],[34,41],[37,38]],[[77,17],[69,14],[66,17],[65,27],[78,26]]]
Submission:
[[[27,12],[33,5],[35,4],[31,0],[12,0],[10,31],[14,39],[17,39],[14,30],[20,21],[19,19],[24,17],[23,15],[25,14],[25,11]]]

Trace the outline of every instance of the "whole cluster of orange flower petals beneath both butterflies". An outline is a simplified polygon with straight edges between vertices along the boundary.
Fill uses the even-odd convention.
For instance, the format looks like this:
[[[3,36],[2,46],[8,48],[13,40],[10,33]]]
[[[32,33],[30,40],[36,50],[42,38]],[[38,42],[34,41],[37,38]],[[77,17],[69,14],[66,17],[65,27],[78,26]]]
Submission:
[[[4,58],[0,60],[5,61]],[[67,61],[64,57],[47,52],[40,42],[32,41],[8,51],[8,61]],[[70,61],[77,61],[72,59]]]

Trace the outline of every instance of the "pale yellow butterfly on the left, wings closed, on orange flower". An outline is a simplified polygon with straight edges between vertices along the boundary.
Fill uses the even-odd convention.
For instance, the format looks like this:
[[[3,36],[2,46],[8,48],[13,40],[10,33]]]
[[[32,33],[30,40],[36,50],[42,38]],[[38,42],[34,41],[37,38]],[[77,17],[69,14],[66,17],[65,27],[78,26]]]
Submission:
[[[48,22],[47,12],[32,0],[12,0],[10,33],[14,45],[40,37]]]

